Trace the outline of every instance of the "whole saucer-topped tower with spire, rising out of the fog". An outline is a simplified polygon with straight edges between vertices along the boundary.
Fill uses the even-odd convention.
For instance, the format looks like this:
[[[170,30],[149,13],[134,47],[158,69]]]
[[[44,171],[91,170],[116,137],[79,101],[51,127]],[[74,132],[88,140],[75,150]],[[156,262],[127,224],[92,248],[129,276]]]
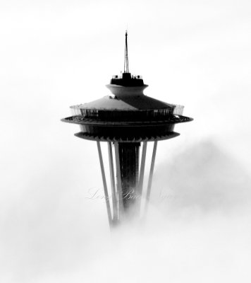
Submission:
[[[142,77],[129,72],[127,37],[126,32],[124,72],[122,76],[113,76],[106,85],[111,95],[71,106],[73,116],[62,119],[80,125],[81,132],[75,134],[76,137],[97,142],[110,226],[129,214],[140,214],[147,143],[153,141],[154,147],[145,209],[151,193],[157,142],[177,137],[179,134],[174,132],[174,125],[192,121],[192,118],[183,116],[183,106],[144,95],[147,85]],[[106,184],[102,141],[108,145],[111,197]]]

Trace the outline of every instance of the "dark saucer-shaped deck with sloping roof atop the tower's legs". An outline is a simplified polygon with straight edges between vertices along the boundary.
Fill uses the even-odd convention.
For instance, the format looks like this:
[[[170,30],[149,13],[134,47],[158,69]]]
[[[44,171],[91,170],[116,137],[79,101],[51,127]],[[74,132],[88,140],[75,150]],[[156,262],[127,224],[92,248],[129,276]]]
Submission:
[[[62,121],[80,125],[81,132],[75,136],[82,139],[140,142],[177,137],[174,125],[192,120],[182,115],[183,106],[145,96],[141,86],[130,94],[125,93],[128,87],[119,88],[116,96],[72,106],[75,115]]]

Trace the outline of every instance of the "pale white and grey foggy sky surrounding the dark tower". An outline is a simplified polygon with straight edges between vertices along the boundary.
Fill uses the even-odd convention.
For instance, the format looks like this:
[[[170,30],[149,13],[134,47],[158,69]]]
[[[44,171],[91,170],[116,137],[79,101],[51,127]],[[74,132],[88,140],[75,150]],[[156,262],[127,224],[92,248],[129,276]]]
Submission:
[[[250,8],[1,0],[1,282],[250,282]],[[147,221],[110,235],[96,144],[60,119],[108,94],[126,28],[145,94],[195,120],[159,142]]]

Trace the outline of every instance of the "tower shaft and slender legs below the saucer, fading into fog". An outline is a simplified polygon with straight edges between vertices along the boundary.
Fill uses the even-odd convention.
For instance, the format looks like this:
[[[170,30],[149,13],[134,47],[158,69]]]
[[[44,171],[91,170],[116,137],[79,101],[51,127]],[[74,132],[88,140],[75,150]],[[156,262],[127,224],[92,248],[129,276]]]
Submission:
[[[142,146],[142,155],[140,158],[140,146]],[[115,164],[113,162],[112,144],[108,142],[109,168],[111,181],[111,195],[109,196],[106,176],[104,173],[104,163],[100,142],[97,141],[99,153],[100,168],[102,171],[102,180],[104,185],[104,197],[106,200],[106,209],[109,218],[110,227],[123,221],[126,216],[140,216],[142,207],[142,187],[145,171],[145,156],[147,151],[147,142],[114,142]],[[152,187],[152,175],[154,171],[154,162],[157,150],[157,141],[154,141],[152,152],[151,168],[147,185],[147,198],[144,205],[144,213],[147,212],[147,202]],[[140,166],[139,166],[140,163]],[[115,168],[114,168],[115,165]],[[140,170],[139,170],[140,168]],[[116,170],[115,170],[116,169]],[[116,171],[116,183],[115,174]],[[111,203],[110,203],[111,202]],[[111,209],[112,207],[112,209]]]

